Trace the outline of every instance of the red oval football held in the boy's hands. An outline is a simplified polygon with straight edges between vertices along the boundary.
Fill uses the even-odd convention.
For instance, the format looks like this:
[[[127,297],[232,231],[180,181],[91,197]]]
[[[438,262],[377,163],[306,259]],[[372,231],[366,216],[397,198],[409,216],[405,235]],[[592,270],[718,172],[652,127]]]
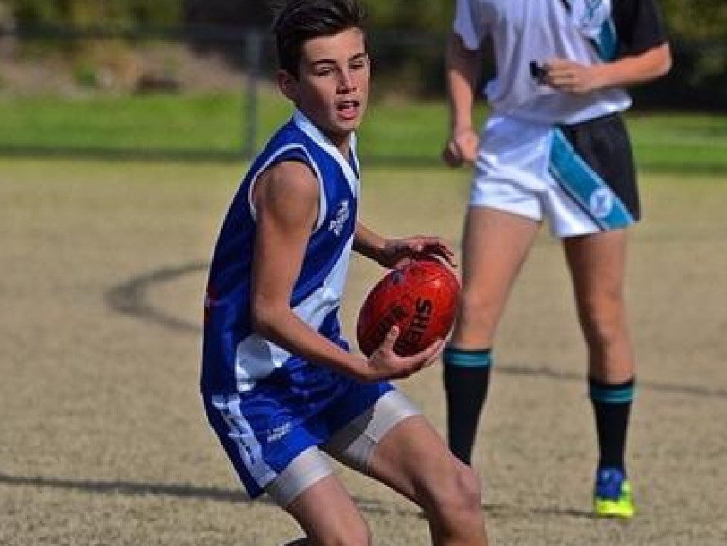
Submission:
[[[417,260],[391,270],[374,285],[358,312],[358,347],[371,355],[396,325],[394,352],[419,353],[449,333],[458,298],[457,277],[438,260]]]

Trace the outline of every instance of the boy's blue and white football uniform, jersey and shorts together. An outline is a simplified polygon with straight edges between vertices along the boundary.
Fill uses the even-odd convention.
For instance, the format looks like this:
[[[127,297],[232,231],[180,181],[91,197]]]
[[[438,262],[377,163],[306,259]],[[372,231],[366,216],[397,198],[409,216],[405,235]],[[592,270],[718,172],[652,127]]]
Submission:
[[[302,161],[318,179],[318,220],[290,302],[294,313],[348,350],[338,317],[359,194],[355,137],[350,158],[300,111],[254,159],[222,223],[205,301],[201,391],[209,422],[250,497],[262,494],[302,451],[320,446],[370,408],[386,383],[362,385],[305,361],[252,329],[255,236],[252,189],[280,161]]]

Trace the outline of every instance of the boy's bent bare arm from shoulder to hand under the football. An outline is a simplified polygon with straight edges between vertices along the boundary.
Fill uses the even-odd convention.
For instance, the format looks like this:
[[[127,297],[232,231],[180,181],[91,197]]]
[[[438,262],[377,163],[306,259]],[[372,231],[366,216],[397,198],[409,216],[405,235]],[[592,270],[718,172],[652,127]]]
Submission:
[[[431,364],[441,343],[414,356],[393,352],[398,332],[370,358],[348,353],[290,307],[305,248],[318,217],[318,182],[308,166],[283,162],[262,174],[253,194],[257,233],[252,265],[252,321],[262,337],[291,353],[362,381],[406,377]]]

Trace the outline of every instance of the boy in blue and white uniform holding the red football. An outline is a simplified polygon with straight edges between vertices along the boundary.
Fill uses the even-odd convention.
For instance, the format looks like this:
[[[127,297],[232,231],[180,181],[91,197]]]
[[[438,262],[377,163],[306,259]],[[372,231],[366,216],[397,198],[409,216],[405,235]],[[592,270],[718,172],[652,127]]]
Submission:
[[[324,452],[422,508],[434,545],[485,545],[478,480],[388,380],[431,364],[435,342],[366,358],[338,310],[350,252],[392,268],[438,237],[385,239],[357,219],[354,130],[369,95],[355,0],[289,0],[276,17],[278,86],[292,119],[270,138],[222,224],[205,302],[201,393],[249,496],[267,493],[300,524],[296,544],[369,545]]]

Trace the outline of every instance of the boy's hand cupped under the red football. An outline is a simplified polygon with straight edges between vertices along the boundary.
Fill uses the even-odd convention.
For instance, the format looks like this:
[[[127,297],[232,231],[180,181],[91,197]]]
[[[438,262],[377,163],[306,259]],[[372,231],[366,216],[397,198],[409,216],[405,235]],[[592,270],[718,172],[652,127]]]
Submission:
[[[392,326],[381,345],[369,356],[369,376],[371,381],[399,380],[434,364],[444,348],[444,341],[437,340],[421,353],[411,356],[398,356],[394,345],[399,337],[399,329]]]

